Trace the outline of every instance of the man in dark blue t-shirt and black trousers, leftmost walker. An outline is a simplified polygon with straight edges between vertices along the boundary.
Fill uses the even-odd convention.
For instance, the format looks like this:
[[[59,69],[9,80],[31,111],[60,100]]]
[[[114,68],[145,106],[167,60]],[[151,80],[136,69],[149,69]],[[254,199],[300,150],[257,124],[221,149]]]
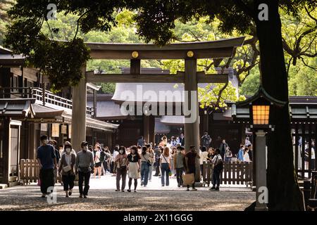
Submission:
[[[37,148],[37,161],[39,162],[39,180],[41,183],[42,198],[46,197],[47,188],[54,187],[54,169],[56,155],[53,146],[49,145],[46,135],[41,136],[42,146]]]

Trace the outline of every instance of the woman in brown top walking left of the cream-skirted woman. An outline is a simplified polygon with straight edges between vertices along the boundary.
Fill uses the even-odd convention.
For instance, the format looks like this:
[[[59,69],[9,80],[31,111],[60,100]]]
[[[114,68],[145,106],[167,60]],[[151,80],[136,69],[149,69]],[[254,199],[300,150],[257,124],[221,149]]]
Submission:
[[[120,191],[120,179],[122,179],[121,191],[125,192],[125,182],[127,179],[128,158],[127,158],[127,154],[125,153],[124,146],[120,146],[120,148],[119,148],[119,154],[116,157],[115,165],[117,168],[117,175],[116,175],[117,189],[116,189],[116,191]]]

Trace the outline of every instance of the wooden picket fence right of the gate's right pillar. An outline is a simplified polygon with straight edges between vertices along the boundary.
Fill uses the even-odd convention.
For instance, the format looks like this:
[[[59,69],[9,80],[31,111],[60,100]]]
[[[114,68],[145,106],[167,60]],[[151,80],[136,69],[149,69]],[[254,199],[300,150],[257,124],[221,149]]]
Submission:
[[[220,184],[244,184],[252,185],[252,162],[229,162],[223,164],[223,172],[220,176]],[[203,164],[203,181],[210,186],[212,184],[211,162]]]

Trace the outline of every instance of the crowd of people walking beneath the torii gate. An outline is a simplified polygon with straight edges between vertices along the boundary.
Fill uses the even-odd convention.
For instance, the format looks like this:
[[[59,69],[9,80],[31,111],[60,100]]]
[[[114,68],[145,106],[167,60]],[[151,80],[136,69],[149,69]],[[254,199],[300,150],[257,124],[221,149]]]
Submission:
[[[170,185],[170,177],[175,177],[178,187],[183,186],[183,175],[197,173],[197,160],[199,160],[201,174],[204,162],[213,165],[211,191],[219,191],[220,174],[223,163],[232,161],[232,152],[225,140],[219,148],[211,148],[211,137],[205,133],[201,136],[201,146],[189,146],[185,150],[185,136],[172,136],[170,140],[163,136],[156,146],[145,143],[141,136],[135,146],[116,145],[112,153],[108,147],[101,148],[99,143],[89,146],[87,141],[81,143],[80,150],[74,150],[70,142],[66,141],[56,149],[56,141],[49,140],[46,135],[41,136],[42,145],[37,149],[39,162],[39,185],[42,197],[46,196],[47,188],[54,186],[57,177],[61,176],[63,191],[68,198],[73,193],[75,176],[78,175],[80,198],[87,198],[89,179],[100,179],[107,172],[116,176],[116,191],[137,192],[138,180],[140,185],[146,187],[153,176],[161,176],[161,186]],[[250,162],[249,149],[251,142],[247,138],[237,154],[238,162]],[[128,189],[125,189],[128,175]],[[84,187],[83,187],[84,186]],[[197,191],[195,182],[187,184],[187,191]]]

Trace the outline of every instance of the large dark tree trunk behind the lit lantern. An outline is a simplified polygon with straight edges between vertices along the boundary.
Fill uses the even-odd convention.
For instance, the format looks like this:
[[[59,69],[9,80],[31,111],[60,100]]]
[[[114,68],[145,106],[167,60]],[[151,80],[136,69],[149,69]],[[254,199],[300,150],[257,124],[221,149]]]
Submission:
[[[268,20],[260,21],[256,13],[256,32],[261,52],[261,80],[264,89],[288,103],[287,72],[282,48],[282,32],[277,0],[255,0],[268,5]],[[304,210],[302,192],[294,172],[289,105],[273,108],[270,123],[275,131],[268,134],[268,208],[269,210]]]

